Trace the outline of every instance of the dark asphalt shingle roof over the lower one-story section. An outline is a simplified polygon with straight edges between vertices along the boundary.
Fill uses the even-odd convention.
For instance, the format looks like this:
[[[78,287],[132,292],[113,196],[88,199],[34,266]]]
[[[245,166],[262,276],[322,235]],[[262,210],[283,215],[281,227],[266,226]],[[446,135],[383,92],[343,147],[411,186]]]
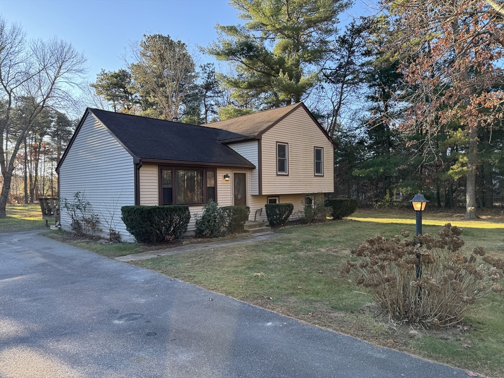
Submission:
[[[139,159],[254,167],[243,156],[219,142],[219,129],[88,109]]]

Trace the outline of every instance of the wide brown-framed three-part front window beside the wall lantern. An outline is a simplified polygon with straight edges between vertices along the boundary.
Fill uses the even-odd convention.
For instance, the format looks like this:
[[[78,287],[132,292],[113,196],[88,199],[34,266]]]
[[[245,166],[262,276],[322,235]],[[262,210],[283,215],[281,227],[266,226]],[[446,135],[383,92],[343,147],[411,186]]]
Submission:
[[[203,204],[216,200],[216,172],[207,169],[161,169],[161,205]]]

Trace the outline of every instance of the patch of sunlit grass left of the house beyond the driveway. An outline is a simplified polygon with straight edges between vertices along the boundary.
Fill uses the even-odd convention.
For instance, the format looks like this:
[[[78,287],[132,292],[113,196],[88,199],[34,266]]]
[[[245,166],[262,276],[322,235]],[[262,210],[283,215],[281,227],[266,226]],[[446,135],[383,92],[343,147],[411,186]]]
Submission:
[[[0,218],[0,232],[19,232],[45,229],[38,204],[7,206],[7,217]]]

